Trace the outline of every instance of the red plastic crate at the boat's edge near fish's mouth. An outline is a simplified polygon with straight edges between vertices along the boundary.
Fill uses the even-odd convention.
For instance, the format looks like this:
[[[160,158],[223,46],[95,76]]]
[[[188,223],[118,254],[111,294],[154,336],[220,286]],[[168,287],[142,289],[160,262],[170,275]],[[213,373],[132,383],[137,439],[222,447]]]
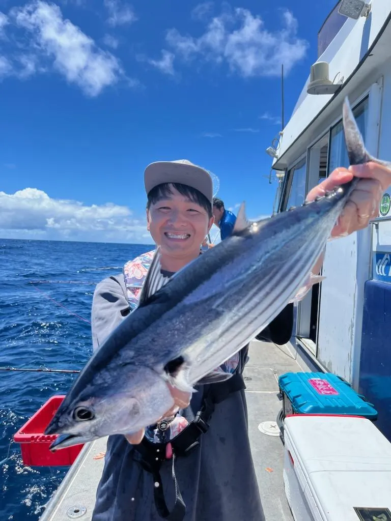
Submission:
[[[49,450],[58,435],[45,436],[44,431],[64,398],[65,395],[52,396],[14,435],[14,441],[20,443],[25,465],[40,467],[72,465],[83,448],[82,443],[55,452]]]

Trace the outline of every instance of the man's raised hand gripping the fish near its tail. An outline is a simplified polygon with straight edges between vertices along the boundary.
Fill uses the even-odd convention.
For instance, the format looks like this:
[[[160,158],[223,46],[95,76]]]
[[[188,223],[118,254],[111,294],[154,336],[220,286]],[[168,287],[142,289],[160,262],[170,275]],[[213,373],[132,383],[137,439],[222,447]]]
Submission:
[[[345,237],[368,226],[369,221],[378,216],[383,192],[391,184],[391,170],[377,163],[354,165],[348,169],[337,168],[308,193],[306,200],[313,201],[317,195],[324,195],[338,185],[347,183],[353,176],[361,179],[331,232],[332,238]]]

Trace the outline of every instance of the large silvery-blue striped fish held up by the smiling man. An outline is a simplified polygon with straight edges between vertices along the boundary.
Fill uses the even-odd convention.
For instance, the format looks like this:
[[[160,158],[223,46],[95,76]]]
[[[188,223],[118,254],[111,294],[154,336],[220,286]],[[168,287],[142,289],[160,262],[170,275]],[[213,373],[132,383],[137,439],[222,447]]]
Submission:
[[[389,166],[366,151],[348,98],[343,128],[351,165]],[[139,306],[92,355],[45,429],[57,435],[50,449],[155,424],[174,405],[167,383],[197,392],[230,378],[215,368],[294,299],[357,182],[254,222],[243,203],[230,237],[169,278],[157,247]]]

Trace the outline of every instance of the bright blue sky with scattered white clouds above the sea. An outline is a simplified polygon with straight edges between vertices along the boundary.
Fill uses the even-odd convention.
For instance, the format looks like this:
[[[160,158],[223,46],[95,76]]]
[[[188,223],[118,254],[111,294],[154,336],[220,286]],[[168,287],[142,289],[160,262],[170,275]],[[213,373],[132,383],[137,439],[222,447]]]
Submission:
[[[250,218],[333,0],[0,0],[0,237],[148,242],[143,170],[189,159]]]

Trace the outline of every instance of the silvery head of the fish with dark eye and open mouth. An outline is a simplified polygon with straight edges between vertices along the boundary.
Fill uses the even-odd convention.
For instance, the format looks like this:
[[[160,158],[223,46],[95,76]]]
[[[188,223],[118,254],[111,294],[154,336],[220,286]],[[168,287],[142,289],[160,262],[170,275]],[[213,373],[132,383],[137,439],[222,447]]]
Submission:
[[[50,447],[54,450],[114,434],[132,434],[156,423],[173,405],[162,376],[148,367],[132,366],[116,379],[95,378],[77,395],[71,389],[45,435],[59,435]]]

